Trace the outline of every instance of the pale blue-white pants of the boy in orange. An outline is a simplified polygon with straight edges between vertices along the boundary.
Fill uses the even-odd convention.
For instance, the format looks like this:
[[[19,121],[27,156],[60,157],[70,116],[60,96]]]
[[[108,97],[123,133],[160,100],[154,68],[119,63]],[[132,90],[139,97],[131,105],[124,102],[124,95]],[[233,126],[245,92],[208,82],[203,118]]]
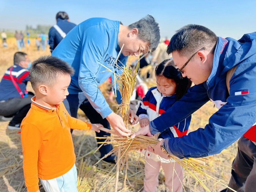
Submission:
[[[41,179],[45,192],[78,192],[76,165],[64,175],[50,179]]]

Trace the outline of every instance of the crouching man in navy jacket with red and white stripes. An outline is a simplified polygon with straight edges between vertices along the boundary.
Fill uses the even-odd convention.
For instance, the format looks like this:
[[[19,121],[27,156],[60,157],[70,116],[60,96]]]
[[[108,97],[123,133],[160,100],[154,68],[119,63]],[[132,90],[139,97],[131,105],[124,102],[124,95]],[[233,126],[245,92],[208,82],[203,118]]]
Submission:
[[[24,52],[14,54],[14,65],[5,71],[0,82],[0,116],[13,117],[8,129],[20,130],[20,124],[30,109],[33,93],[27,92],[31,62]]]

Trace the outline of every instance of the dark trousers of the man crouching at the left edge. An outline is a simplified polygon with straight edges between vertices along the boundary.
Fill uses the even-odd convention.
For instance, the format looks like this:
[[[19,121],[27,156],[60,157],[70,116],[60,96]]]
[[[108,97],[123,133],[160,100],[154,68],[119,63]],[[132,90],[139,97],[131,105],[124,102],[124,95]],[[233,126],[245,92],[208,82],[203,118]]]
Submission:
[[[31,98],[34,97],[33,93],[29,93],[27,97],[11,98],[6,101],[0,102],[0,115],[4,117],[14,118],[10,121],[9,125],[21,124],[31,106]]]

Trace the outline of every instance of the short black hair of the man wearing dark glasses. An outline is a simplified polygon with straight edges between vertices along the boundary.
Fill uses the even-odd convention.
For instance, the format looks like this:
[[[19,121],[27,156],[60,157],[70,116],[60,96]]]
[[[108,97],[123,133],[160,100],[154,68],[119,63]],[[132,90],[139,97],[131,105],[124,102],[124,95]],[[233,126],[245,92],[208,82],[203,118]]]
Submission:
[[[181,56],[191,56],[200,49],[214,52],[218,37],[202,25],[186,25],[176,31],[167,47],[167,53],[177,51]]]

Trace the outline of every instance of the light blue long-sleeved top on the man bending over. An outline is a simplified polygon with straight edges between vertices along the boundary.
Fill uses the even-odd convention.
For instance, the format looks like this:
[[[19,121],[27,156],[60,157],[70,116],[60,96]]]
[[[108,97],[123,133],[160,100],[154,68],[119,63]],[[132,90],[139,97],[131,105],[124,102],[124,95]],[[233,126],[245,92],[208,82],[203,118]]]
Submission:
[[[117,65],[123,67],[128,58],[123,54],[117,58],[120,52],[119,26],[119,21],[87,19],[72,29],[52,52],[52,56],[66,61],[75,69],[68,87],[69,94],[83,92],[102,118],[112,113],[98,87],[110,76],[113,77],[113,72],[105,67],[121,75],[123,71],[115,66],[115,61],[118,59]],[[117,102],[121,103],[120,93]]]

